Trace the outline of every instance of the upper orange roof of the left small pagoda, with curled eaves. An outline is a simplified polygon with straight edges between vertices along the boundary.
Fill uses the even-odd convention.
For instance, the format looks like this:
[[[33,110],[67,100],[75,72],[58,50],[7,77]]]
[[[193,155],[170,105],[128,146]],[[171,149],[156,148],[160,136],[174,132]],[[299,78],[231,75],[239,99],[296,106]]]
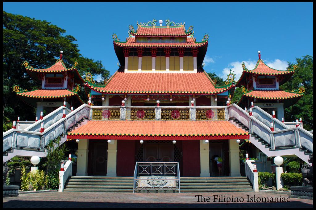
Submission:
[[[25,69],[38,82],[41,82],[41,80],[37,76],[38,72],[40,72],[40,73],[63,73],[63,72],[66,72],[66,71],[73,71],[73,72],[75,72],[75,77],[77,79],[79,79],[79,81],[80,81],[80,83],[78,83],[78,84],[82,84],[84,82],[84,80],[82,79],[82,77],[80,76],[78,70],[76,69],[76,65],[77,64],[75,64],[75,66],[72,66],[72,68],[67,68],[65,66],[65,64],[64,64],[64,61],[62,59],[58,59],[55,64],[53,64],[52,66],[50,66],[50,67],[48,67],[46,69],[33,68],[33,66],[29,66],[28,62],[26,62],[26,65],[25,65],[26,68]]]

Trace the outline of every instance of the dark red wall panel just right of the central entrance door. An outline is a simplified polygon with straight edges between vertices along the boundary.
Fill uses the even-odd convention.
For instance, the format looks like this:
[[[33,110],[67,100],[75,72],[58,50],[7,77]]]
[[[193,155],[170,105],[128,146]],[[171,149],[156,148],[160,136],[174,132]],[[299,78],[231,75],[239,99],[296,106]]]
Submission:
[[[181,176],[200,176],[200,141],[185,140],[182,142]]]

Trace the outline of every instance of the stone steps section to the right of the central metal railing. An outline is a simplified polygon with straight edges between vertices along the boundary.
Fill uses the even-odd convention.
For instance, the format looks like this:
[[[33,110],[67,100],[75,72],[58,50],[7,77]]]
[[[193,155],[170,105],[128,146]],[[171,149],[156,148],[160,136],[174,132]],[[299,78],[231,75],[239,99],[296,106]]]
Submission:
[[[246,177],[181,177],[180,192],[253,191]]]

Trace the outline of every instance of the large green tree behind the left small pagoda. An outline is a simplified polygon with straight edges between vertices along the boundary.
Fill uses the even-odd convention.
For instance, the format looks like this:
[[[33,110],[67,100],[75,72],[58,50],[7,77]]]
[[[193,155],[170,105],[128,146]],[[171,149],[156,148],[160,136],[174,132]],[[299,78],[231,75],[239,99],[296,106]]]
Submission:
[[[56,62],[60,50],[63,50],[66,66],[71,67],[78,60],[78,69],[82,75],[87,71],[94,76],[100,74],[101,83],[110,77],[101,61],[83,57],[79,53],[78,44],[74,43],[76,38],[64,35],[65,32],[46,20],[35,20],[3,11],[3,115],[11,121],[17,116],[21,120],[35,118],[35,109],[25,105],[11,88],[15,84],[27,90],[41,87],[21,65],[24,60],[34,68],[46,68]],[[80,96],[85,100],[84,91],[81,92]]]

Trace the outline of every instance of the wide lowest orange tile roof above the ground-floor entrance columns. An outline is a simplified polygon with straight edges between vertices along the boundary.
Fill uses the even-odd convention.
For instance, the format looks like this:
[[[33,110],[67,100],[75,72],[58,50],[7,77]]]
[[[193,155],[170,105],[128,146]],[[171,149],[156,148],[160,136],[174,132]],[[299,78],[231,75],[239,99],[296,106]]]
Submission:
[[[96,121],[90,120],[87,124],[68,133],[67,138],[81,137],[185,137],[207,139],[236,139],[242,135],[249,138],[248,132],[235,127],[228,121]]]

